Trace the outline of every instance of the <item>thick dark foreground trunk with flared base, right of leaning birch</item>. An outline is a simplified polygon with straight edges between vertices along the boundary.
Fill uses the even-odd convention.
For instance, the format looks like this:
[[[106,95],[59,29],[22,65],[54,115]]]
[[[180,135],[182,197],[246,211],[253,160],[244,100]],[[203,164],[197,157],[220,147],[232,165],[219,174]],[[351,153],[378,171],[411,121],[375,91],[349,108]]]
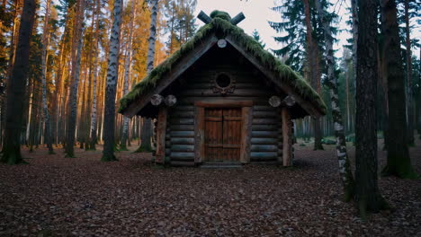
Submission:
[[[355,116],[355,195],[360,215],[387,206],[378,186],[377,164],[377,1],[358,1]]]

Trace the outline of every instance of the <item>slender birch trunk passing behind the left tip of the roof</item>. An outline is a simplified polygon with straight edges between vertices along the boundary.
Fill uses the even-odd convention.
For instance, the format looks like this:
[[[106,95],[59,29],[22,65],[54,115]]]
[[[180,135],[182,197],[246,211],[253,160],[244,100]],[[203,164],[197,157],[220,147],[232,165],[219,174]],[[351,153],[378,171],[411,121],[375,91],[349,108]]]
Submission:
[[[130,68],[131,68],[131,51],[132,51],[132,43],[133,43],[133,25],[134,25],[134,16],[136,14],[136,3],[131,1],[132,8],[130,13],[130,24],[129,24],[129,39],[127,42],[127,54],[126,60],[124,63],[124,85],[123,85],[123,95],[127,94],[129,91],[129,82],[130,82]],[[153,65],[152,65],[153,66]],[[129,123],[130,118],[124,117],[123,118],[123,127],[122,127],[122,134],[121,134],[121,143],[120,143],[120,150],[127,151],[127,138],[129,136]]]

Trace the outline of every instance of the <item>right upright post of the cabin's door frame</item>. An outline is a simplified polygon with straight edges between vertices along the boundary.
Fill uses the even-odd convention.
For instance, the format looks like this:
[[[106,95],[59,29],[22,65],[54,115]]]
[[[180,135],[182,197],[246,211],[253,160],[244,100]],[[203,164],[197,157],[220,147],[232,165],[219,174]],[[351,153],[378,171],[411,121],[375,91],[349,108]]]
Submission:
[[[240,162],[249,163],[253,121],[252,107],[243,107],[241,110],[241,117],[243,118],[243,124],[241,126]]]

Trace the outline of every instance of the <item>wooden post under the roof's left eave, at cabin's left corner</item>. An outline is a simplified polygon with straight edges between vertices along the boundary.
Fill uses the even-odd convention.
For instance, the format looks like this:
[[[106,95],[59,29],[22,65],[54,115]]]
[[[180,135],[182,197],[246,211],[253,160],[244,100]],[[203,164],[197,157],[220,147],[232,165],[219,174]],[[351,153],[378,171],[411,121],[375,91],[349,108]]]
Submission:
[[[166,158],[166,107],[158,109],[157,118],[157,152],[155,162],[164,163]]]

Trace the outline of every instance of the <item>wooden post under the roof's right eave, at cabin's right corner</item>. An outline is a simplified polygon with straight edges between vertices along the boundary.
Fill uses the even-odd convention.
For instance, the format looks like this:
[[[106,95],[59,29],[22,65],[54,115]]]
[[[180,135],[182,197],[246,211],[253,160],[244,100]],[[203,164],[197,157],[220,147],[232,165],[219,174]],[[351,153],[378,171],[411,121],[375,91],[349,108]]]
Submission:
[[[288,108],[283,107],[282,113],[282,164],[292,165],[292,122]],[[281,161],[279,161],[281,162]]]

